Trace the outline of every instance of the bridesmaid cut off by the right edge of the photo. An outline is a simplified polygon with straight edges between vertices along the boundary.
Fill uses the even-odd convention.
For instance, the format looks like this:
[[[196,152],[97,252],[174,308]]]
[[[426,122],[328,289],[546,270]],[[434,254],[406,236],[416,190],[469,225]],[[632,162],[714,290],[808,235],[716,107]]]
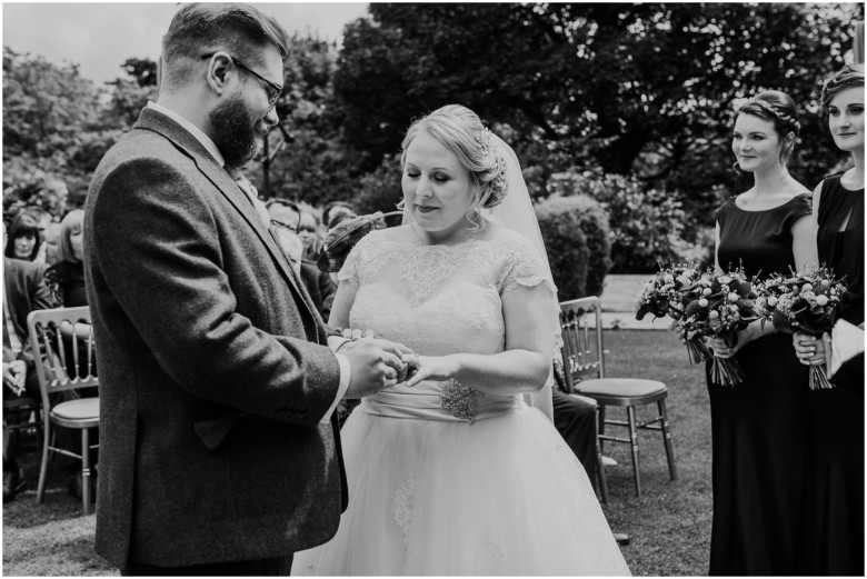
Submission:
[[[819,261],[846,277],[840,317],[864,328],[864,68],[848,64],[821,94],[828,129],[853,168],[813,193]],[[831,348],[834,345],[831,345]],[[825,361],[821,340],[795,335],[803,363]],[[811,409],[805,491],[804,572],[864,575],[864,355],[808,393]]]

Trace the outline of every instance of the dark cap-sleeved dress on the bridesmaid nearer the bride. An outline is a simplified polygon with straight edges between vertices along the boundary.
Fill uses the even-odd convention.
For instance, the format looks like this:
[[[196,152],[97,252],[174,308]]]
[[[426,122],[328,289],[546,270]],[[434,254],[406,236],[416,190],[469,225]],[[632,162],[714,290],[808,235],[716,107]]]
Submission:
[[[719,266],[743,264],[747,276],[761,279],[788,273],[795,267],[791,227],[809,213],[806,194],[765,211],[740,209],[729,199],[716,216]],[[754,340],[735,358],[743,383],[733,388],[708,379],[714,447],[709,575],[799,575],[807,368],[788,333]]]

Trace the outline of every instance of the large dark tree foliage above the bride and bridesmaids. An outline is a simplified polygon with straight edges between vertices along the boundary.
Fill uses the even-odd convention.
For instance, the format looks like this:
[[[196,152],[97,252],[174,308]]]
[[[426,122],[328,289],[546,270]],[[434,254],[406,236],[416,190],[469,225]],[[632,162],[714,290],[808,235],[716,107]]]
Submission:
[[[734,186],[733,103],[760,90],[805,111],[793,172],[839,158],[815,116],[816,80],[843,64],[857,4],[372,3],[346,29],[335,79],[346,137],[372,170],[413,117],[448,102],[539,142],[546,176],[601,168],[675,190],[707,220]],[[555,160],[562,164],[552,166]]]

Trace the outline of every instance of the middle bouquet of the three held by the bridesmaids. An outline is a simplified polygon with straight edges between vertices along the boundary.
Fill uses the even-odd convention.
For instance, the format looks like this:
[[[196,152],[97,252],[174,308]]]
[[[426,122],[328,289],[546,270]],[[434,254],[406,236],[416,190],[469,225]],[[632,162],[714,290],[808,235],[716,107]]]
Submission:
[[[680,328],[687,335],[722,338],[726,346],[737,345],[737,332],[758,320],[756,290],[744,268],[717,274],[708,269],[695,284],[684,292],[684,316]],[[744,379],[734,358],[714,357],[710,381],[721,386],[737,386]]]

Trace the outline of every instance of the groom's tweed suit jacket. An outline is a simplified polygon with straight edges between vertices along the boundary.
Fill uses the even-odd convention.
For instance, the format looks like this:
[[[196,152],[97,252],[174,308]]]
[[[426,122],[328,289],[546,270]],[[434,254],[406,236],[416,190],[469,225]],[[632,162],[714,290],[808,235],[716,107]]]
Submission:
[[[346,506],[326,328],[250,199],[142,111],[84,218],[99,358],[97,552],[187,566],[328,540]]]

